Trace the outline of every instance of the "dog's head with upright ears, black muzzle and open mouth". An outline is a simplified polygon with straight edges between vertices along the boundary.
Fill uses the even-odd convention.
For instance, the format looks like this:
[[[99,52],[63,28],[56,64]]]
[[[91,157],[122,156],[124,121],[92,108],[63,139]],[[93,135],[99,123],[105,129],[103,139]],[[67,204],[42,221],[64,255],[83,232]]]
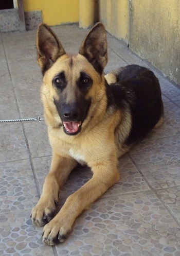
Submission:
[[[37,32],[37,51],[44,76],[46,122],[63,125],[66,134],[76,135],[104,95],[105,28],[97,23],[84,38],[79,54],[73,55],[66,54],[55,33],[42,23]]]

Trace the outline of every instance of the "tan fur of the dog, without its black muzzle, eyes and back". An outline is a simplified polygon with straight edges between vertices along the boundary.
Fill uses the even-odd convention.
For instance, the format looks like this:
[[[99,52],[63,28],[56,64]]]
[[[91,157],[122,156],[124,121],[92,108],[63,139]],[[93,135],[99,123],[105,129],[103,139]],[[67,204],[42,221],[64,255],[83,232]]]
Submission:
[[[53,44],[48,41],[49,36],[54,40]],[[43,37],[42,40],[41,37]],[[88,45],[89,37],[98,40],[96,42],[97,51],[100,52],[97,54],[98,61],[104,67],[107,57],[105,29],[102,24],[96,25],[95,29],[88,33],[78,55],[65,54],[62,45],[47,25],[41,24],[38,30],[38,62],[42,71],[44,69],[41,94],[52,147],[52,162],[43,185],[41,198],[32,209],[32,221],[38,226],[43,226],[50,221],[45,225],[43,233],[43,242],[47,245],[63,242],[77,216],[110,186],[119,181],[117,158],[129,149],[129,147],[124,148],[122,144],[131,129],[130,110],[127,109],[125,113],[120,110],[115,111],[113,107],[106,110],[107,96],[104,83],[105,79],[109,83],[116,82],[115,73],[106,75],[104,78],[103,73],[100,74],[95,70],[92,49]],[[45,44],[44,41],[47,41],[47,56],[44,56],[41,50],[44,47],[42,46]],[[104,49],[99,47],[101,44],[105,45]],[[90,63],[83,55],[87,55],[92,62]],[[45,70],[46,67],[47,70]],[[87,95],[92,98],[91,107],[81,131],[75,136],[69,136],[63,131],[62,121],[53,101],[53,99],[59,100],[59,95],[56,88],[52,86],[52,80],[61,71],[65,73],[67,88],[69,87],[66,97],[68,103],[71,102],[77,90],[76,81],[79,79],[80,72],[83,71],[89,77],[93,77],[93,85]],[[115,133],[118,125],[121,128]],[[92,169],[93,177],[77,192],[70,195],[60,212],[52,218],[58,202],[59,189],[77,163],[88,164]]]

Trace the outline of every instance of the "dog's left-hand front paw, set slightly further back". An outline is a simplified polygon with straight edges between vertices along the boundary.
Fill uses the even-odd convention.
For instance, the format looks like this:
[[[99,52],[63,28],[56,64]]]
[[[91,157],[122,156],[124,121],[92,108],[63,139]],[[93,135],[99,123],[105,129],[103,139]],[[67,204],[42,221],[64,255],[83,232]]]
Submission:
[[[36,226],[46,225],[54,216],[57,200],[40,201],[31,211],[32,223]]]

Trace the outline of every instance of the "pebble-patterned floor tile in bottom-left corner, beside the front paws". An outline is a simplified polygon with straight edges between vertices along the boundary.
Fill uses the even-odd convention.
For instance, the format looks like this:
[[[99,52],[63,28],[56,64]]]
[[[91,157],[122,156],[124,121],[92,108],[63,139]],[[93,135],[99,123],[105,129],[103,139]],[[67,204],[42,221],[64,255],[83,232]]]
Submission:
[[[42,228],[32,226],[27,211],[0,214],[0,255],[53,255],[52,247],[42,244],[41,233]]]

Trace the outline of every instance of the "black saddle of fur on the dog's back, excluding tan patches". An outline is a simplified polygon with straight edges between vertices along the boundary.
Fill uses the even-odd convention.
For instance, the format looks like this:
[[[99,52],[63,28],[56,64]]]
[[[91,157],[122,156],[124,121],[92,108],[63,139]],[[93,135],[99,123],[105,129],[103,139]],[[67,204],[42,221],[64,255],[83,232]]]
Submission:
[[[107,106],[115,104],[122,112],[130,108],[132,127],[125,144],[131,145],[143,139],[160,119],[163,113],[161,91],[154,73],[138,65],[125,67],[118,79],[120,82],[106,85]]]

